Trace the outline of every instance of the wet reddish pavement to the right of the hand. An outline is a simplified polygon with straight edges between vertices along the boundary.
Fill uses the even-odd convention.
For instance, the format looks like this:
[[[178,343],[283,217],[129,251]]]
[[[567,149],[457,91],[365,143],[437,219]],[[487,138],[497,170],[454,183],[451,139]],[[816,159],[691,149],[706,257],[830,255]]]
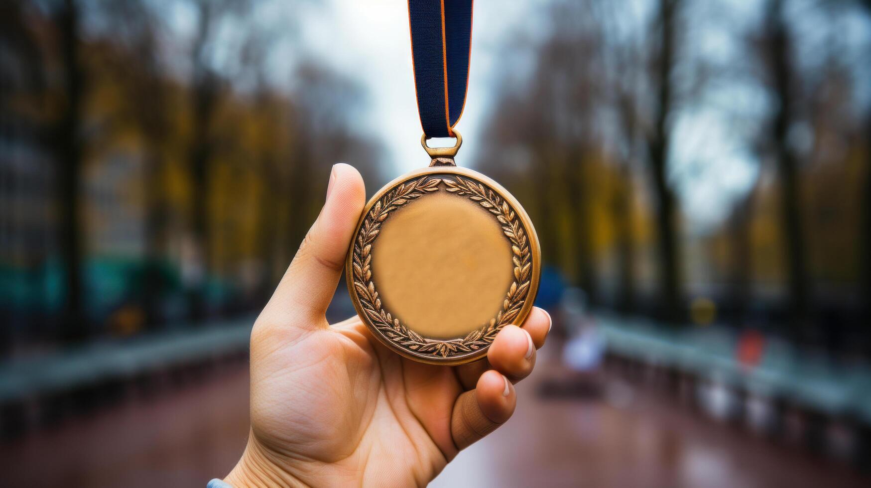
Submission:
[[[567,373],[539,358],[510,421],[442,471],[433,486],[869,486],[840,461],[719,423],[661,393],[604,378],[601,394],[543,398]],[[527,383],[528,382],[528,383]]]

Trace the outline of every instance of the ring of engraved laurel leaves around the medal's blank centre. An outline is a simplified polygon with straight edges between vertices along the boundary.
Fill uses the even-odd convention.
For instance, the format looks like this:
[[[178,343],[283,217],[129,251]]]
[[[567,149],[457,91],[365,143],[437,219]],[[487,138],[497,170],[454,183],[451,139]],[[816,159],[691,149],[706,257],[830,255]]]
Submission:
[[[502,230],[511,243],[514,262],[514,281],[505,295],[502,309],[489,324],[472,330],[463,338],[439,340],[429,339],[408,329],[400,320],[381,307],[381,298],[372,282],[372,244],[381,232],[381,223],[391,212],[411,200],[426,193],[437,192],[442,182],[450,193],[468,197],[496,215]],[[352,264],[354,267],[354,289],[360,299],[368,319],[390,341],[429,356],[459,356],[482,349],[493,342],[504,325],[510,323],[520,313],[530,289],[532,254],[523,223],[514,210],[498,193],[475,180],[455,177],[436,178],[423,176],[410,180],[390,190],[369,209],[354,241]]]

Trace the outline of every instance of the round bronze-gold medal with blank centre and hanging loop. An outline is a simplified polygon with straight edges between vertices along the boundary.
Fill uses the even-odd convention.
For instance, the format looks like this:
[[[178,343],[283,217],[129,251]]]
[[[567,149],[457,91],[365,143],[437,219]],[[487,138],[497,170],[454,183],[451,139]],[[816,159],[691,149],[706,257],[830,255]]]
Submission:
[[[388,348],[423,363],[469,363],[530,313],[540,274],[535,228],[496,181],[432,149],[368,201],[348,252],[354,308]]]

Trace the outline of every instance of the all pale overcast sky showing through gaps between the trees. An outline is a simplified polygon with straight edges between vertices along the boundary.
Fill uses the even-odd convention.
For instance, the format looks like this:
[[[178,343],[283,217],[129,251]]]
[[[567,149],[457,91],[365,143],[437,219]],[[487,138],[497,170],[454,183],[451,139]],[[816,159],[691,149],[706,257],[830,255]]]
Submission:
[[[637,1],[639,5],[645,2]],[[461,166],[475,166],[477,142],[498,86],[494,77],[505,65],[512,70],[528,65],[523,64],[523,53],[513,53],[507,46],[520,35],[534,40],[546,34],[548,3],[550,0],[475,2],[469,91],[463,119],[457,125],[463,133],[463,149],[457,157]],[[746,62],[747,46],[734,28],[758,22],[760,0],[706,0],[692,5],[709,11],[693,17],[691,28],[696,35],[693,44],[686,47],[720,64]],[[176,13],[177,24],[192,24],[185,21],[192,12]],[[273,29],[287,26],[288,32],[294,32],[282,37],[267,61],[276,83],[287,83],[288,73],[301,55],[319,58],[367,92],[366,104],[354,122],[361,125],[362,133],[381,143],[381,161],[388,177],[429,164],[420,146],[422,130],[415,105],[405,0],[271,0],[258,3],[255,15],[256,24],[272,25]],[[824,20],[808,22],[813,27],[814,22]],[[750,120],[765,104],[758,86],[719,84],[706,92],[704,99],[689,105],[692,110],[682,110],[674,120],[669,175],[682,210],[693,224],[692,232],[704,233],[719,225],[733,201],[758,179],[760,164],[748,145],[753,133],[747,133],[756,129],[742,126],[740,118],[736,123],[734,114],[746,113]],[[452,140],[444,142],[449,145]]]

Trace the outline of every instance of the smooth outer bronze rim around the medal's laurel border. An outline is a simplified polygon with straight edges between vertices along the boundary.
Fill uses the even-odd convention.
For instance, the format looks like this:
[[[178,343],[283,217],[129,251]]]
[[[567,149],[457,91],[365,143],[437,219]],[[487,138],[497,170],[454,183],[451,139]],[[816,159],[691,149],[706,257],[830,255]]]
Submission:
[[[523,223],[524,229],[526,230],[527,240],[529,241],[530,254],[532,258],[532,269],[530,276],[530,289],[527,291],[526,298],[523,302],[523,307],[520,308],[517,316],[510,323],[516,324],[519,327],[526,320],[526,317],[530,315],[532,307],[534,306],[536,295],[538,293],[538,284],[541,275],[541,248],[539,247],[538,235],[536,234],[535,227],[533,227],[532,225],[532,220],[530,220],[529,215],[526,214],[526,210],[523,208],[520,202],[517,201],[517,199],[514,198],[514,195],[512,195],[502,185],[482,173],[478,173],[475,170],[460,166],[430,166],[402,174],[402,176],[399,176],[394,180],[391,180],[387,185],[382,186],[381,189],[378,190],[378,192],[376,192],[375,195],[373,195],[372,198],[368,200],[368,202],[366,203],[366,207],[363,207],[363,211],[361,213],[360,219],[357,221],[357,225],[354,227],[354,234],[352,234],[352,238],[348,246],[348,255],[345,259],[345,282],[346,286],[348,287],[348,295],[350,295],[351,302],[354,304],[354,310],[357,312],[357,315],[360,317],[361,321],[366,324],[369,332],[374,335],[375,338],[379,342],[381,342],[381,344],[387,346],[388,349],[395,351],[399,355],[407,357],[408,359],[412,359],[418,363],[441,365],[473,363],[487,355],[487,351],[490,350],[492,342],[474,352],[450,357],[429,356],[422,353],[417,353],[414,350],[402,348],[402,346],[397,345],[388,337],[384,336],[381,332],[381,329],[375,327],[375,324],[372,323],[371,319],[369,319],[365,310],[362,308],[360,297],[359,295],[357,295],[357,291],[354,288],[354,241],[356,241],[357,235],[359,235],[360,233],[361,226],[363,225],[363,221],[366,220],[366,216],[368,215],[369,210],[373,206],[375,206],[375,203],[378,200],[381,200],[381,197],[384,196],[385,193],[388,193],[396,186],[399,186],[400,184],[402,184],[402,182],[407,180],[413,180],[427,174],[456,174],[459,176],[470,178],[472,180],[477,180],[484,185],[489,186],[490,189],[498,193],[499,196],[507,201],[510,207],[515,211],[515,213]],[[504,325],[502,327],[504,327]]]

